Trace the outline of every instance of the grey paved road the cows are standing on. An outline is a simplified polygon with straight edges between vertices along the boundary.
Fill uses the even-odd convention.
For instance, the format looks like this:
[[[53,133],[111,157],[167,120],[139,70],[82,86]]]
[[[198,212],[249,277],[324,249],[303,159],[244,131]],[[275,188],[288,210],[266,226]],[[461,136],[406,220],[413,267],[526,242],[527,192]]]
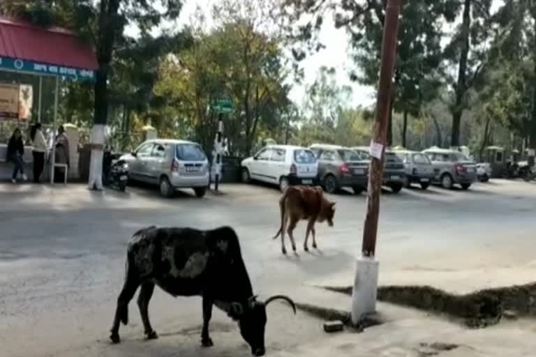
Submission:
[[[84,186],[0,185],[0,345],[2,356],[247,356],[236,327],[215,317],[217,349],[200,351],[200,301],[156,293],[151,319],[160,340],[141,339],[137,306],[122,328],[124,344],[107,344],[114,301],[124,275],[124,250],[147,225],[215,227],[238,232],[261,296],[292,296],[297,284],[348,277],[360,250],[366,196],[337,201],[335,227],[318,226],[320,251],[283,257],[278,192],[258,185],[223,185],[226,195],[165,200],[154,190],[89,192]],[[530,264],[536,185],[493,181],[468,192],[440,188],[382,196],[378,258],[382,274],[462,271]],[[296,232],[303,242],[304,224]],[[288,246],[288,249],[290,246]],[[289,249],[290,250],[290,249]],[[380,276],[381,280],[381,276]],[[3,322],[6,322],[5,324]],[[285,349],[322,336],[318,321],[270,309],[268,348]],[[158,351],[158,352],[157,352]],[[189,352],[188,352],[189,351]]]

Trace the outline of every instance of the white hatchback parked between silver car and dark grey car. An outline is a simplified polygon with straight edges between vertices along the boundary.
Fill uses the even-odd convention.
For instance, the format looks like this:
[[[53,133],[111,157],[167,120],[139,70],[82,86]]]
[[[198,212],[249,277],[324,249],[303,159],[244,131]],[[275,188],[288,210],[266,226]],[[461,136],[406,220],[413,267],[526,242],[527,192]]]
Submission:
[[[301,146],[268,145],[241,162],[242,182],[251,180],[279,185],[317,185],[318,161],[313,151]]]

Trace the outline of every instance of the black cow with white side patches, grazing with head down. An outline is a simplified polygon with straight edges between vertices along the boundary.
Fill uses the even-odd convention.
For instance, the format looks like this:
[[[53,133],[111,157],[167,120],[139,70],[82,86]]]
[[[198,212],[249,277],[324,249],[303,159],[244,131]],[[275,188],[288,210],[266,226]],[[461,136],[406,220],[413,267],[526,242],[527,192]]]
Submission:
[[[276,299],[295,304],[286,296],[257,301],[241,256],[237,234],[230,227],[140,229],[128,242],[126,277],[117,299],[112,342],[119,342],[119,322],[128,324],[128,303],[137,298],[148,339],[157,338],[149,322],[149,300],[158,285],[172,296],[202,296],[202,345],[213,345],[209,336],[212,305],[238,321],[244,340],[255,356],[265,354],[266,306]]]

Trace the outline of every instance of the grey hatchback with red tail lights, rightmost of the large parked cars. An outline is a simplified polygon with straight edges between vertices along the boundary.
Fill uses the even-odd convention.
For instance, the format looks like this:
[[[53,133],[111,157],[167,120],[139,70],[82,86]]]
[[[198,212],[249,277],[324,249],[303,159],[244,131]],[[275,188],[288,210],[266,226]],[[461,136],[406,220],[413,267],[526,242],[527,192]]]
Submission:
[[[463,190],[470,188],[477,180],[477,166],[463,153],[451,149],[426,149],[423,151],[431,160],[434,170],[434,183],[451,189],[455,184]]]

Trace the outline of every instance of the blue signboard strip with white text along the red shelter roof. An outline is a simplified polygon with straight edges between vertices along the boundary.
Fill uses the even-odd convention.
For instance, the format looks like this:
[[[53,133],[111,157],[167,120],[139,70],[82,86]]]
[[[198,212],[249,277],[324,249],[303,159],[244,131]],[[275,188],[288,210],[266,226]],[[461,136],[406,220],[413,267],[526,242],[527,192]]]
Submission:
[[[22,59],[12,59],[9,57],[0,57],[0,70],[2,69],[34,73],[35,75],[55,75],[76,81],[93,82],[95,80],[94,70],[54,66],[47,63],[23,61]]]

